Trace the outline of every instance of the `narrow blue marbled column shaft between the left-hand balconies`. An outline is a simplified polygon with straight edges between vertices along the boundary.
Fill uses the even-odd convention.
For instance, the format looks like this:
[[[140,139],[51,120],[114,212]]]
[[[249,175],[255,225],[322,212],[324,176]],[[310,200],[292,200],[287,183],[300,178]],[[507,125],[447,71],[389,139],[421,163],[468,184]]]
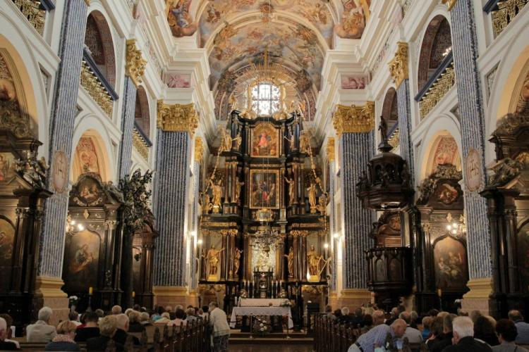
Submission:
[[[136,86],[130,77],[125,77],[125,89],[123,94],[123,108],[121,115],[121,146],[119,148],[118,177],[130,175],[133,149],[133,128],[136,110]]]

